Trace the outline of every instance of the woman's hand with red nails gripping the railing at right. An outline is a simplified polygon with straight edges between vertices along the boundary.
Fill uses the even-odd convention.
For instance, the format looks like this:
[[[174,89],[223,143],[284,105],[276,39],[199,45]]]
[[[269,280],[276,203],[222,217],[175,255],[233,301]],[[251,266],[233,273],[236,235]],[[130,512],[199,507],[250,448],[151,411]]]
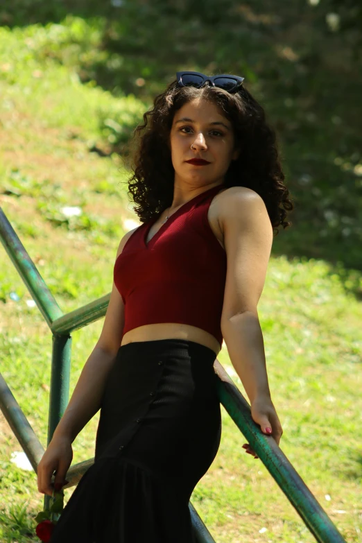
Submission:
[[[277,445],[279,445],[280,438],[282,437],[283,429],[280,424],[279,417],[275,411],[275,407],[270,397],[258,397],[255,398],[251,404],[252,420],[257,424],[260,424],[261,431],[267,436],[273,436]],[[252,450],[248,443],[243,445],[243,449],[248,454],[252,454],[254,458],[259,458],[255,451]]]

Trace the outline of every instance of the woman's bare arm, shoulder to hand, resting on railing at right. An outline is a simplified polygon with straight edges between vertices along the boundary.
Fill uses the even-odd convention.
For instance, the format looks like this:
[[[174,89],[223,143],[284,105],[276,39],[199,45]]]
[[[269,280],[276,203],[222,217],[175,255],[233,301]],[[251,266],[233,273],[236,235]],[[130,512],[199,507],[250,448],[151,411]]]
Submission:
[[[219,222],[227,254],[227,274],[221,331],[230,361],[250,399],[252,419],[279,444],[282,425],[270,395],[257,313],[273,244],[273,228],[264,201],[255,191],[232,187],[223,195]],[[249,445],[243,447],[256,456]]]

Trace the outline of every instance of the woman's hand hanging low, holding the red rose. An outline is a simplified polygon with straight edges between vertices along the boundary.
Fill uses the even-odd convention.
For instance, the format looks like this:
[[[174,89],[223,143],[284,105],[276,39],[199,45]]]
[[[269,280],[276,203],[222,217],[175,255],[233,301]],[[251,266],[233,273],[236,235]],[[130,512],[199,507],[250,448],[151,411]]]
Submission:
[[[37,466],[37,490],[42,494],[53,496],[53,490],[58,491],[68,481],[65,480],[67,471],[73,460],[71,439],[67,437],[53,438]],[[53,473],[54,482],[51,482]]]

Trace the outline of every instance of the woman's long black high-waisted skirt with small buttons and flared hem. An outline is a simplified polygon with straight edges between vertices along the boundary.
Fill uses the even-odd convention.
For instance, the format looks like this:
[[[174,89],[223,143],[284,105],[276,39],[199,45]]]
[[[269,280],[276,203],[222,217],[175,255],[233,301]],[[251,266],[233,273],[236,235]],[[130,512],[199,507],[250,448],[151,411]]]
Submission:
[[[212,349],[127,343],[107,377],[94,465],[51,543],[195,543],[189,499],[221,440]]]

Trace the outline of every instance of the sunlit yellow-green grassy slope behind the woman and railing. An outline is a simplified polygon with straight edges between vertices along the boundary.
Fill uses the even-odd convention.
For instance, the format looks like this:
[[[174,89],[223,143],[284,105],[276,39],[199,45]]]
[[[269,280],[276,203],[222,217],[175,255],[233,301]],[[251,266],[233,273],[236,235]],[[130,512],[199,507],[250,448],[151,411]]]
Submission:
[[[21,40],[1,33],[1,186],[21,193],[1,194],[1,207],[66,313],[110,291],[125,221],[136,218],[120,184],[126,175],[117,156],[88,151],[100,139],[99,107],[127,104],[80,85],[64,67],[37,62]],[[10,47],[16,64],[8,61]],[[85,220],[56,226],[64,205],[82,207]],[[2,248],[0,261],[0,295],[6,300],[0,302],[1,372],[46,445],[51,335],[37,309],[26,305],[30,296]],[[13,291],[18,302],[9,297]],[[259,316],[284,427],[282,449],[345,539],[360,542],[361,304],[345,294],[340,277],[323,261],[272,257]],[[101,324],[73,334],[71,391]],[[218,359],[232,374],[227,350]],[[98,414],[74,442],[75,463],[93,455],[97,423]],[[21,447],[3,418],[1,429],[0,493],[6,502],[0,541],[23,543],[30,540],[26,533],[34,533],[31,516],[42,508],[42,495],[33,472],[10,462],[11,452]],[[216,541],[313,541],[260,460],[245,454],[243,442],[223,411],[221,447],[192,498]],[[267,531],[259,533],[261,528]]]

